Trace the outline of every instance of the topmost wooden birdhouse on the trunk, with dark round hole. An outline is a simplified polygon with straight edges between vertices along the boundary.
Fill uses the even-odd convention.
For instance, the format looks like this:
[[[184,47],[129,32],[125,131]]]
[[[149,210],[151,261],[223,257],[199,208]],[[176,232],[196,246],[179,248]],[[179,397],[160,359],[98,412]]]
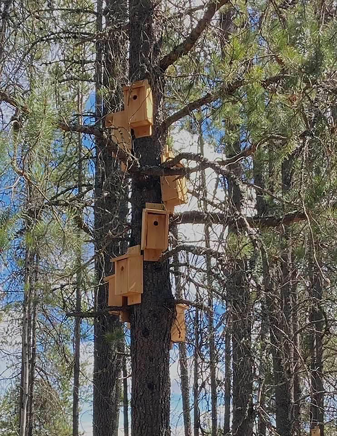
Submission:
[[[148,80],[123,87],[124,108],[136,138],[152,135],[153,103]]]

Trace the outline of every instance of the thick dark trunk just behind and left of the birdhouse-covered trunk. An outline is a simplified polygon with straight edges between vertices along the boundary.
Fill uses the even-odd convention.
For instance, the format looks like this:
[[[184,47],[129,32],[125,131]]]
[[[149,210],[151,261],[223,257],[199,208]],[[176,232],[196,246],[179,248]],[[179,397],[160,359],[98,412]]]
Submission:
[[[102,0],[97,3],[98,32],[102,31]],[[96,126],[102,126],[106,112],[120,109],[121,90],[126,74],[125,35],[121,31],[126,20],[126,2],[111,0],[105,8],[106,27],[109,38],[96,43],[95,86],[96,86]],[[114,27],[116,26],[116,27]],[[109,98],[102,101],[102,86],[106,87]],[[120,181],[116,161],[107,149],[105,141],[96,139],[95,161],[95,273],[99,282],[95,293],[95,309],[104,311],[107,306],[107,289],[103,277],[111,274],[110,258],[126,252],[124,240],[107,240],[109,233],[123,231],[127,213],[126,191]],[[115,436],[118,430],[119,399],[121,384],[121,341],[107,341],[106,335],[118,332],[119,320],[116,316],[104,314],[94,322],[94,399],[93,435]],[[118,337],[119,334],[116,334]]]

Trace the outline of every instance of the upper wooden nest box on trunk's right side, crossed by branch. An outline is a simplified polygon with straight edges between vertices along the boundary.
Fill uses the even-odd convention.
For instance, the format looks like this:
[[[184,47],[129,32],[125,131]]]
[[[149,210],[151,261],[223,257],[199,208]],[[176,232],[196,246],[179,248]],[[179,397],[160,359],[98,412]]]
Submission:
[[[161,156],[161,163],[167,159],[172,159],[174,154],[166,151]],[[184,168],[180,162],[172,168]],[[161,176],[160,177],[161,197],[167,211],[174,213],[174,206],[187,203],[186,177],[181,176]]]

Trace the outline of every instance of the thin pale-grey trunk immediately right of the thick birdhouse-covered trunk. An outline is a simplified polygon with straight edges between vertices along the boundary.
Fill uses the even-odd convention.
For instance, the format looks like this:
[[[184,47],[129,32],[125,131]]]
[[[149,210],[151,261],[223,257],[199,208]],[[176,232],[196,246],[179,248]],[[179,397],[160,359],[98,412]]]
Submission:
[[[173,246],[177,246],[178,228],[177,225],[171,226],[171,232],[174,237]],[[183,298],[181,289],[181,276],[179,269],[179,255],[174,254],[174,283],[176,289],[176,299]],[[191,413],[190,413],[190,386],[188,380],[187,368],[187,353],[186,345],[184,342],[178,343],[179,348],[179,368],[180,368],[180,384],[181,384],[181,398],[183,403],[183,419],[184,419],[184,433],[185,436],[191,436]]]

